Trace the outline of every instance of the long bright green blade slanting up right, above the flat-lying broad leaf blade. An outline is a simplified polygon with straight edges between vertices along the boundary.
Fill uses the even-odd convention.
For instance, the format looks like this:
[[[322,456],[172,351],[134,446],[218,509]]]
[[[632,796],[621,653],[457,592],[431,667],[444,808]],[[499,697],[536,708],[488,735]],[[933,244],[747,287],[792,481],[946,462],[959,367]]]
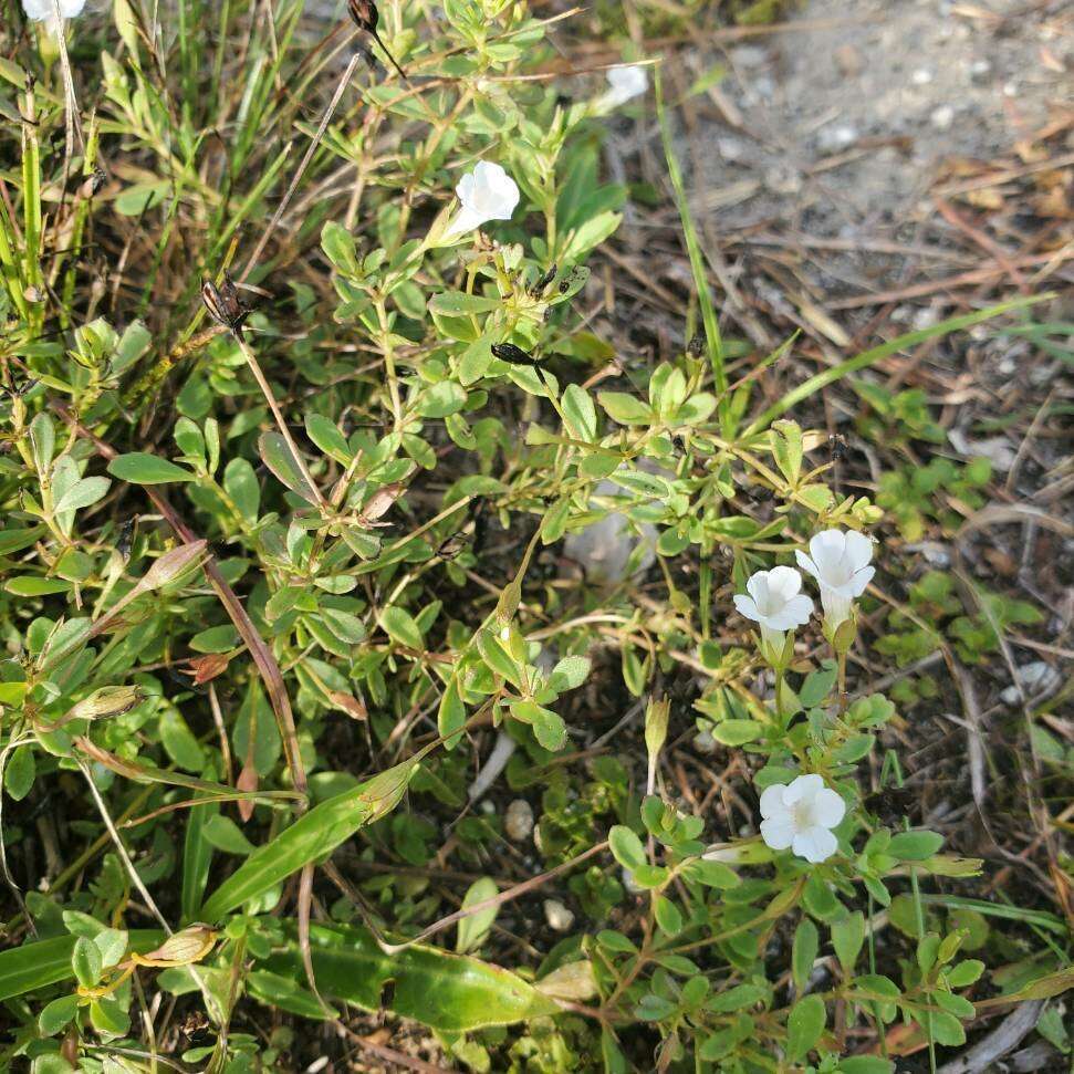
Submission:
[[[417,770],[416,761],[404,761],[300,816],[271,842],[258,847],[206,899],[202,920],[219,921],[304,865],[331,854],[363,825],[386,816],[398,805]]]

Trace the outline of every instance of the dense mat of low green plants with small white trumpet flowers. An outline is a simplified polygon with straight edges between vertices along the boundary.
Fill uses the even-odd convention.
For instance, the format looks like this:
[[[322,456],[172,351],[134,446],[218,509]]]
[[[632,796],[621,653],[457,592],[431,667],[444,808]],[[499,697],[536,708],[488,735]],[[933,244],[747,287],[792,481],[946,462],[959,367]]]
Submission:
[[[1066,922],[906,805],[928,680],[856,686],[1032,622],[937,574],[869,625],[884,510],[988,475],[847,493],[799,416],[1032,300],[776,395],[658,58],[569,77],[574,12],[2,3],[0,1066],[882,1074],[1019,1001],[1068,1046]],[[590,327],[638,107],[695,283],[656,363]]]

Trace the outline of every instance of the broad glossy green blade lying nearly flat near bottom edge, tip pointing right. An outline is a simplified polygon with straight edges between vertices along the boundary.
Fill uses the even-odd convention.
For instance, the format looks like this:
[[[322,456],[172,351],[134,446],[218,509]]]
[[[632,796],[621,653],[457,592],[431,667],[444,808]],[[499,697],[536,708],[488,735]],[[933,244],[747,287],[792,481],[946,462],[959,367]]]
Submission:
[[[249,976],[250,992],[273,1007],[324,1018],[304,988],[296,929],[291,924],[285,927],[286,948]],[[508,970],[421,945],[386,955],[362,928],[313,925],[310,949],[317,989],[323,995],[365,1011],[387,1009],[441,1033],[510,1025],[560,1010]],[[392,988],[386,991],[389,983]]]

